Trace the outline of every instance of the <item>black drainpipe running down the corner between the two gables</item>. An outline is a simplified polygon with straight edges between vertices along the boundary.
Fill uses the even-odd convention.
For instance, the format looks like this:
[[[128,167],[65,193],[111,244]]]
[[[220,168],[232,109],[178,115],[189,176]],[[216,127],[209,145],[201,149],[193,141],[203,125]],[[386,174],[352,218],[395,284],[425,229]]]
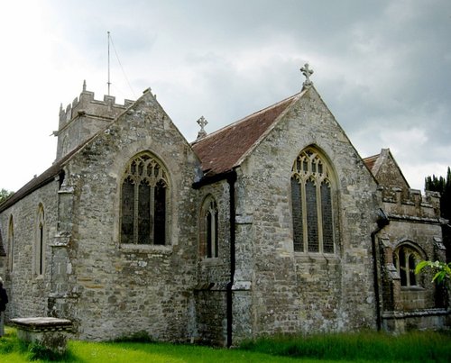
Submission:
[[[227,348],[232,346],[232,336],[233,336],[233,310],[232,310],[232,286],[234,286],[235,278],[235,182],[236,182],[236,172],[232,171],[227,176],[227,183],[229,185],[229,204],[230,204],[230,281],[226,287],[226,316],[227,316]]]

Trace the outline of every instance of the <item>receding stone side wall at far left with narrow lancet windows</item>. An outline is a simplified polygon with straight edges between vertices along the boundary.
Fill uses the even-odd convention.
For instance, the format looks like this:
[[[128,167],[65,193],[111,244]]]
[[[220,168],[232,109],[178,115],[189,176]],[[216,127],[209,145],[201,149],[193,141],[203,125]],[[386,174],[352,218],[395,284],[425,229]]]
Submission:
[[[0,214],[2,237],[5,244],[5,288],[9,296],[6,319],[13,317],[47,316],[47,297],[51,292],[51,243],[56,233],[58,221],[57,180],[41,186],[31,195]],[[38,209],[44,210],[44,274],[36,273],[35,241],[38,239]],[[14,220],[14,256],[8,245],[8,225],[10,217]]]

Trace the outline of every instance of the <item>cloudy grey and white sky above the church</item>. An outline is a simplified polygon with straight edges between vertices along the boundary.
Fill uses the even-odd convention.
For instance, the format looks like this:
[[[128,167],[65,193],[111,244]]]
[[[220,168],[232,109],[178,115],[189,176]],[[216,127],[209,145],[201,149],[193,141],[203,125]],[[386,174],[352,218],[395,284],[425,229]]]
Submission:
[[[311,77],[362,157],[390,148],[410,186],[451,165],[449,0],[7,1],[0,13],[0,189],[51,166],[60,104],[147,87],[188,141]],[[118,58],[116,58],[116,53]],[[119,61],[118,61],[119,59]]]

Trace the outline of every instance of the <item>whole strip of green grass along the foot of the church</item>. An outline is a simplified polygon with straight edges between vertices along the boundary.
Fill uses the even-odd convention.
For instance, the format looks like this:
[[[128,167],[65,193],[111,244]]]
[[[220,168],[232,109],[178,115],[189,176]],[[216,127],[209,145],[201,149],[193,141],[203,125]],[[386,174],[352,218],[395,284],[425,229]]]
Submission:
[[[36,355],[45,357],[40,347],[17,340],[15,330],[6,328],[0,339],[0,362],[27,362]],[[44,353],[44,354],[43,354]],[[47,357],[49,358],[49,357]],[[51,358],[51,357],[50,357]],[[35,362],[49,360],[38,359]],[[194,345],[153,342],[69,341],[64,362],[448,362],[451,335],[414,332],[392,336],[376,332],[279,336],[244,342],[240,349],[214,349]]]

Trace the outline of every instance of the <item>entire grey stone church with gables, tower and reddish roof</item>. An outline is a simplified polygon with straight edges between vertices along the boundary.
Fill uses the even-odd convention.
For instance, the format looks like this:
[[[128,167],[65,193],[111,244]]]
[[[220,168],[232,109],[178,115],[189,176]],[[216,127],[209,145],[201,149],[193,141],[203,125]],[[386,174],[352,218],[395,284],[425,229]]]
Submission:
[[[150,89],[115,104],[85,84],[54,163],[0,205],[6,319],[221,346],[446,327],[446,291],[413,273],[445,259],[439,195],[388,149],[362,159],[301,70],[298,94],[210,134],[201,118],[192,143]]]

